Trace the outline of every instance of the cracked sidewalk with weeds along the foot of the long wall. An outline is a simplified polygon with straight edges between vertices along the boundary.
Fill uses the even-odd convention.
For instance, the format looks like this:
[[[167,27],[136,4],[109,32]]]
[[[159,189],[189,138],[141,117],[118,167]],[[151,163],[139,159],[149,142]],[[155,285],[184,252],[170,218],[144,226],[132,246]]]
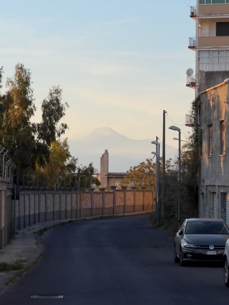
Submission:
[[[152,211],[145,211],[139,213],[126,213],[126,214],[117,214],[111,216],[94,216],[87,217],[84,219],[64,219],[56,221],[46,221],[34,224],[30,227],[17,231],[15,239],[12,239],[11,243],[0,250],[0,264],[8,263],[14,264],[20,262],[23,264],[24,268],[17,271],[2,272],[0,271],[0,291],[6,287],[6,283],[13,282],[13,279],[20,278],[25,272],[26,268],[32,267],[32,264],[35,263],[44,251],[44,246],[42,242],[42,236],[34,234],[39,230],[45,227],[52,227],[53,225],[67,224],[73,221],[82,221],[90,219],[100,219],[100,218],[109,218],[109,217],[120,217],[120,216],[131,216],[138,214],[151,213]]]

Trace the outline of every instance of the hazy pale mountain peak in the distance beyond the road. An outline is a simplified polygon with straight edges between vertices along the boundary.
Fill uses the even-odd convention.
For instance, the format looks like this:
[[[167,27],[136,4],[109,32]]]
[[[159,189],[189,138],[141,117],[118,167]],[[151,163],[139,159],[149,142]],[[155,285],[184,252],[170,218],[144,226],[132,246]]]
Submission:
[[[100,171],[100,157],[105,149],[109,152],[109,172],[126,172],[131,166],[151,158],[155,151],[153,139],[134,140],[120,135],[110,127],[96,128],[68,138],[72,156],[78,157],[78,164],[88,165],[93,162]],[[165,145],[165,159],[174,158],[177,149]],[[161,153],[162,155],[162,145]]]

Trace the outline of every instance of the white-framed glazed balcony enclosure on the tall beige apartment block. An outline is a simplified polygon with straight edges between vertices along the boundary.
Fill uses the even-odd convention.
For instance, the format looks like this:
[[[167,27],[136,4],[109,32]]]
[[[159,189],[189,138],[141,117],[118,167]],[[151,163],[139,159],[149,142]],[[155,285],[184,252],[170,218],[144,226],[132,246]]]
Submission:
[[[229,50],[198,51],[198,70],[229,70]]]

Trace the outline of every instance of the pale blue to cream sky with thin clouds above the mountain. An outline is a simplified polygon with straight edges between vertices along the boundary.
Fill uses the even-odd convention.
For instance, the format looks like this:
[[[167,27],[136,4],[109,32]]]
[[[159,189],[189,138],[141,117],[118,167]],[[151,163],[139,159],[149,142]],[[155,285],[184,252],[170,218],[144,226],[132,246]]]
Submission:
[[[4,1],[0,65],[5,77],[17,62],[31,70],[34,121],[49,88],[63,88],[68,137],[109,126],[129,138],[162,140],[163,109],[182,125],[194,99],[185,86],[186,70],[195,64],[187,48],[195,36],[187,5],[194,2]],[[166,125],[173,125],[169,118]],[[167,127],[166,144],[176,147],[178,133]],[[180,128],[185,139],[191,128]]]

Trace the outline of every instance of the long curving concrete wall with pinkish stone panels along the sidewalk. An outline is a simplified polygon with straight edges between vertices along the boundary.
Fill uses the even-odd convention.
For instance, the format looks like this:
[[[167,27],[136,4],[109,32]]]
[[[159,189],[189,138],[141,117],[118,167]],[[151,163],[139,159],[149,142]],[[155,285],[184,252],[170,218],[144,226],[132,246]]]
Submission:
[[[155,210],[152,191],[136,189],[112,192],[77,192],[65,189],[23,189],[19,200],[11,199],[11,186],[0,185],[0,249],[16,230],[37,222],[134,213]]]

